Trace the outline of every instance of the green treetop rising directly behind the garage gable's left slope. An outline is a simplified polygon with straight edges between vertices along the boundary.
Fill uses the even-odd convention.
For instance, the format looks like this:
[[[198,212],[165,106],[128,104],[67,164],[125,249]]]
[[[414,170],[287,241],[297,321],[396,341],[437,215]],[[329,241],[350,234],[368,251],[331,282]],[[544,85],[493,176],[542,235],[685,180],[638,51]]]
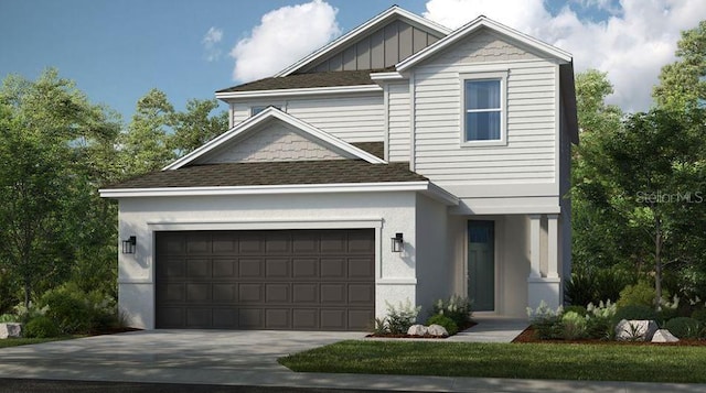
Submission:
[[[226,111],[211,114],[217,108],[218,101],[215,99],[191,99],[186,102],[185,111],[173,113],[171,148],[178,156],[194,151],[228,129]]]

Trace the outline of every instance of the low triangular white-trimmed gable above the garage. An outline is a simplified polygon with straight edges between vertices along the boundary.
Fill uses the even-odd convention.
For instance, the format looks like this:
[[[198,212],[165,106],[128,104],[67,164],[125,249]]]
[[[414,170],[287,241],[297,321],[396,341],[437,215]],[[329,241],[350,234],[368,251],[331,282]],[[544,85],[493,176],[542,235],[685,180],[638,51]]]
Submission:
[[[257,138],[256,135],[260,132],[267,137]],[[298,143],[299,148],[288,151],[285,146],[292,142]],[[163,170],[178,170],[204,163],[271,161],[272,149],[279,149],[277,154],[281,154],[282,159],[279,161],[353,159],[372,164],[385,163],[384,160],[372,153],[346,143],[275,107],[269,107]],[[304,152],[303,156],[302,152]],[[270,159],[264,160],[266,156]]]

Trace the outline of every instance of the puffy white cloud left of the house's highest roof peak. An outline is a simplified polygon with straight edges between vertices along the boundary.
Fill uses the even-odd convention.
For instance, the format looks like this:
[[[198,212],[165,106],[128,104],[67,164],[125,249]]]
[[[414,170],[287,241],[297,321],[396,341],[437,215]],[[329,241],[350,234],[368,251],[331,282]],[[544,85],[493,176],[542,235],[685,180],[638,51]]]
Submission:
[[[266,13],[231,51],[233,78],[248,81],[271,76],[325,45],[341,34],[336,13],[338,9],[321,0]]]

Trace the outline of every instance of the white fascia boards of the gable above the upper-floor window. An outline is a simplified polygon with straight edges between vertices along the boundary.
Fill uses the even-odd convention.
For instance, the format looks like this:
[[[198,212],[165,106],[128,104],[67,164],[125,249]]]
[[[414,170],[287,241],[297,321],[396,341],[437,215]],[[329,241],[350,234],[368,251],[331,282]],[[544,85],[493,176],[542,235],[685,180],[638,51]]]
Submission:
[[[527,34],[507,28],[506,25],[498,23],[485,17],[479,17],[464,26],[461,26],[458,30],[453,31],[442,40],[437,41],[435,44],[427,46],[426,48],[419,51],[417,54],[411,55],[406,59],[397,63],[395,68],[399,73],[405,72],[414,65],[419,64],[420,62],[434,56],[435,54],[443,51],[450,45],[453,45],[459,40],[462,40],[464,36],[478,31],[481,28],[488,28],[499,34],[505,35],[512,40],[515,40],[539,52],[546,53],[552,57],[558,58],[563,62],[571,62],[571,54],[566,51],[559,50],[556,46],[549,45]]]

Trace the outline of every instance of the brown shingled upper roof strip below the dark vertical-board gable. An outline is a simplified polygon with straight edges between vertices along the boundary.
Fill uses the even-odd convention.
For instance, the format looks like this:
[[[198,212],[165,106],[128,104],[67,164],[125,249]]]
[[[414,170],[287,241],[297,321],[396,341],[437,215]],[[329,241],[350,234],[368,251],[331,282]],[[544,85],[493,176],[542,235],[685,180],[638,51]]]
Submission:
[[[313,87],[334,87],[334,86],[362,86],[375,85],[371,79],[371,73],[385,72],[389,69],[365,69],[365,70],[339,70],[328,73],[311,74],[293,74],[281,77],[264,78],[247,84],[228,87],[216,91],[218,92],[237,92],[237,91],[259,91],[259,90],[281,90],[281,89],[301,89]]]

